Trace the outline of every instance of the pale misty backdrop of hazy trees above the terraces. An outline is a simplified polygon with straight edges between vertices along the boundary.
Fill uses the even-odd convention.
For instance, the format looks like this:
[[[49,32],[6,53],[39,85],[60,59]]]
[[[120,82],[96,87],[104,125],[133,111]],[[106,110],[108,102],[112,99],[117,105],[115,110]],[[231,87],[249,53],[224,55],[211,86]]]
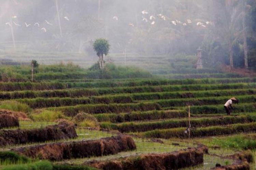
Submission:
[[[105,60],[116,64],[195,62],[200,47],[204,67],[229,65],[231,52],[234,67],[244,67],[246,31],[248,65],[256,65],[255,0],[0,0],[0,6],[2,59],[89,67],[98,60],[93,41],[105,38],[111,45]]]

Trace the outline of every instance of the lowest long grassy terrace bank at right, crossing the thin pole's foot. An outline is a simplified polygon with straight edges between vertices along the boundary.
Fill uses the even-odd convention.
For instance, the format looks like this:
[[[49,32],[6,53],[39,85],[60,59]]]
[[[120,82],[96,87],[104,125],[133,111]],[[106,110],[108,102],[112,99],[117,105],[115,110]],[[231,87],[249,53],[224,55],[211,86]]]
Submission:
[[[188,133],[184,131],[186,128],[175,128],[165,130],[153,130],[138,133],[138,135],[147,138],[188,138]],[[205,137],[205,136],[218,136],[230,135],[237,133],[247,133],[256,131],[256,122],[246,124],[232,124],[228,126],[211,126],[207,128],[191,129],[191,137]]]

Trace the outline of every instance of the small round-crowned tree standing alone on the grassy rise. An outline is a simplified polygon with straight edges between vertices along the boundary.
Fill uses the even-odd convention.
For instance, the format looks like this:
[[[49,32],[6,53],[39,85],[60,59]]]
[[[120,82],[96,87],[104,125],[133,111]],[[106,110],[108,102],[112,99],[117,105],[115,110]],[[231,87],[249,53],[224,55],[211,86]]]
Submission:
[[[97,56],[99,57],[99,67],[100,69],[104,68],[103,56],[109,54],[110,45],[108,40],[99,38],[96,39],[93,43],[93,49],[96,51]]]

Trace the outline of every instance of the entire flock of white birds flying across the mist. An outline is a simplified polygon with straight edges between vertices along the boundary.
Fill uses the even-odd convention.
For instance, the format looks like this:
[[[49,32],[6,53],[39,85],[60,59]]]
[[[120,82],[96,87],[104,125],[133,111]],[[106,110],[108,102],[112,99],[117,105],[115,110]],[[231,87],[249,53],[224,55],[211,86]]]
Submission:
[[[156,17],[155,17],[154,15],[151,15],[151,16],[147,19],[145,16],[146,16],[146,14],[148,14],[148,12],[147,12],[147,11],[142,11],[141,13],[143,14],[142,20],[143,20],[144,22],[150,21],[150,24],[151,24],[151,25],[154,25],[154,24],[156,23],[156,22],[155,22],[156,17],[158,17],[158,18],[160,18],[160,19],[162,19],[162,20],[164,20],[164,21],[166,20],[166,16],[165,16],[165,15],[162,15],[162,14],[158,14]],[[16,16],[16,15],[15,15],[15,16],[12,16],[12,18],[15,19],[15,18],[17,18],[17,16]],[[69,18],[68,18],[68,17],[64,17],[64,18],[69,21]],[[118,21],[118,17],[117,17],[117,16],[114,16],[113,19],[116,20],[116,21]],[[51,25],[51,26],[53,25],[52,23],[48,22],[47,20],[44,20],[44,21],[45,21],[46,24],[48,24],[48,25]],[[15,21],[12,21],[12,22],[13,22],[13,24],[14,24],[15,26],[17,26],[17,27],[20,27],[20,26],[21,26],[20,24],[16,23]],[[186,22],[181,22],[181,21],[179,21],[179,20],[173,20],[173,21],[171,21],[171,23],[172,23],[174,26],[176,26],[177,24],[181,24],[181,25],[183,25],[183,26],[187,26],[188,24],[191,24],[192,21],[191,21],[190,19],[187,19]],[[9,25],[9,26],[11,27],[11,24],[12,24],[12,23],[6,22],[5,24],[6,24],[6,25]],[[197,22],[197,26],[201,26],[201,27],[204,27],[204,28],[206,27],[206,25],[209,25],[209,24],[210,24],[209,21],[206,21],[206,22]],[[133,24],[133,23],[129,23],[128,25],[134,27],[134,24]],[[26,27],[30,27],[31,24],[25,22],[25,26],[26,26]],[[34,26],[39,28],[39,27],[40,27],[39,22],[35,22],[35,23],[34,23]],[[44,32],[47,31],[45,27],[42,27],[41,30],[44,31]]]

